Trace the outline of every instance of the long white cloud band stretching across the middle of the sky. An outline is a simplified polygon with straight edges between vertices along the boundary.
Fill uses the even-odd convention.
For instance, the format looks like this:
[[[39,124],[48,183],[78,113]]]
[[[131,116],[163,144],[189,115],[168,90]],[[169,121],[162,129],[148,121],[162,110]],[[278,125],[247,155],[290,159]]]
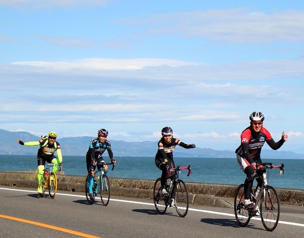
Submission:
[[[286,76],[304,75],[304,60],[261,60],[226,65],[172,59],[106,59],[89,58],[76,61],[20,61],[12,62],[12,67],[24,73],[69,73],[70,75],[107,76],[111,78],[141,78],[153,80],[182,81],[230,81],[279,79]],[[3,70],[8,70],[4,68]],[[128,71],[128,74],[126,74]],[[12,72],[11,72],[12,73]],[[221,85],[231,87],[231,83]]]

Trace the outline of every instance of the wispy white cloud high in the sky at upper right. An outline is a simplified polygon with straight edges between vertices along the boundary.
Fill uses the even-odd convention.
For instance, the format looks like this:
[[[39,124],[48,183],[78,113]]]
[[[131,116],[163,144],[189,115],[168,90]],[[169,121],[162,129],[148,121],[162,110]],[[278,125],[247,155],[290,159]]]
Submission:
[[[247,8],[166,13],[146,19],[129,19],[148,25],[148,34],[209,38],[233,44],[304,41],[304,11],[251,12]]]

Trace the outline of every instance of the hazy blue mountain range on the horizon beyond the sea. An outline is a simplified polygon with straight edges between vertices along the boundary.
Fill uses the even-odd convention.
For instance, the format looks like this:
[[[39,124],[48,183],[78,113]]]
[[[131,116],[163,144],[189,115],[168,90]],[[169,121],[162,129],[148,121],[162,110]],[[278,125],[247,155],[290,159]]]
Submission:
[[[38,141],[41,138],[28,132],[10,132],[0,129],[0,154],[36,154],[38,146],[22,146],[17,138],[26,141]],[[65,137],[58,139],[64,155],[86,155],[90,141],[93,137]],[[120,156],[151,156],[157,152],[157,141],[126,142],[122,140],[110,140],[115,158]],[[106,154],[106,153],[105,153]],[[235,158],[236,154],[230,150],[214,150],[210,148],[184,149],[177,146],[175,157],[217,157]],[[283,150],[262,150],[262,158],[304,158],[304,154]]]

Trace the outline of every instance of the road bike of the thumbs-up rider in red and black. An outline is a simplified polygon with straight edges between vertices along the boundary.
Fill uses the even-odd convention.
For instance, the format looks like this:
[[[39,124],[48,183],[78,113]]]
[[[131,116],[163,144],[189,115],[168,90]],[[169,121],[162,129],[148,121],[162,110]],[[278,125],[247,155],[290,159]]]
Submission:
[[[241,184],[236,191],[234,199],[234,212],[240,226],[246,226],[250,218],[260,213],[263,226],[268,231],[273,231],[280,218],[280,200],[274,187],[268,185],[271,169],[280,169],[281,176],[284,174],[284,164],[276,166],[266,162],[258,166],[255,178],[263,178],[262,186],[251,191],[252,206],[244,206],[244,184]],[[259,211],[258,211],[259,208]]]

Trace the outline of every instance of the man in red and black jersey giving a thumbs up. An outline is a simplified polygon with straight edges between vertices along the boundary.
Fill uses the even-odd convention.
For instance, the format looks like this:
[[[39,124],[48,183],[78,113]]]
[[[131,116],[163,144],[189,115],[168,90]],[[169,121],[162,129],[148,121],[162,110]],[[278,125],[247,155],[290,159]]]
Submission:
[[[242,132],[241,145],[236,149],[238,163],[247,175],[244,182],[245,206],[253,204],[250,201],[250,192],[256,168],[262,163],[260,158],[262,146],[266,142],[272,149],[277,150],[288,139],[288,136],[283,131],[281,140],[275,142],[270,132],[263,127],[264,115],[261,112],[252,112],[249,119],[250,126]],[[263,179],[257,178],[256,181],[257,187],[260,187]]]

